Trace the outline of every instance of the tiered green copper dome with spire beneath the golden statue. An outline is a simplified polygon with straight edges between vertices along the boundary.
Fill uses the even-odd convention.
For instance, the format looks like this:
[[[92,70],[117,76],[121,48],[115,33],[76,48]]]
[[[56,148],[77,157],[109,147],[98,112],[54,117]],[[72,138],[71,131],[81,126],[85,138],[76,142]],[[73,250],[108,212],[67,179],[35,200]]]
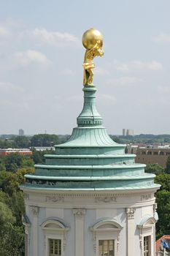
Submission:
[[[96,110],[96,86],[84,86],[84,106],[77,127],[66,143],[45,155],[45,165],[35,165],[35,174],[26,175],[29,189],[126,190],[152,189],[155,175],[144,173],[145,165],[135,164],[134,154],[125,154],[125,145],[115,143],[102,125]]]

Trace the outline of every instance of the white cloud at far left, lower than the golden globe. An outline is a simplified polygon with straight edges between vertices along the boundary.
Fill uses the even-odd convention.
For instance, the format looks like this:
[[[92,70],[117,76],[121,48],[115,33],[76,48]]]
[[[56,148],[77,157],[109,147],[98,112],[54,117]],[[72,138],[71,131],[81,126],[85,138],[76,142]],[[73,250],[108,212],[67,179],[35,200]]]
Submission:
[[[31,63],[48,65],[50,61],[47,59],[44,53],[41,53],[38,50],[26,50],[23,52],[15,53],[15,60],[18,64],[27,66]]]

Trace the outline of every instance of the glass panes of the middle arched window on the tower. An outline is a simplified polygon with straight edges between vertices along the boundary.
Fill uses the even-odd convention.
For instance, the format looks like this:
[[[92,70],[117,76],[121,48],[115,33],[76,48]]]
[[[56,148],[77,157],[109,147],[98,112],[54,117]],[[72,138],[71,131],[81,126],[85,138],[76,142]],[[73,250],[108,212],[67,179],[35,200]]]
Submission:
[[[99,240],[98,241],[98,256],[115,256],[114,240]]]

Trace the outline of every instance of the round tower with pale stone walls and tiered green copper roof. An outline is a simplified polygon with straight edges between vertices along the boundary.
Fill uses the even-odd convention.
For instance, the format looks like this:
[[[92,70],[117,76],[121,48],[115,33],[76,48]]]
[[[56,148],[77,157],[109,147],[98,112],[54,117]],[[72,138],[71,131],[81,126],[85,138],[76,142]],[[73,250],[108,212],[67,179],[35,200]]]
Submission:
[[[134,154],[124,153],[125,145],[109,138],[96,110],[96,86],[85,83],[82,91],[71,137],[21,186],[26,255],[154,256],[159,185]]]

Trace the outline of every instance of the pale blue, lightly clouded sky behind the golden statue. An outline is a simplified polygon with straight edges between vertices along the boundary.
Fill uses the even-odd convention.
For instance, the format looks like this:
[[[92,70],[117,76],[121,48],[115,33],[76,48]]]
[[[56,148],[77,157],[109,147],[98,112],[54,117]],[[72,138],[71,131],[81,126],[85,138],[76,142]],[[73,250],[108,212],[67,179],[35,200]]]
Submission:
[[[104,36],[96,104],[109,134],[170,134],[169,0],[0,0],[0,134],[71,134],[82,34]]]

